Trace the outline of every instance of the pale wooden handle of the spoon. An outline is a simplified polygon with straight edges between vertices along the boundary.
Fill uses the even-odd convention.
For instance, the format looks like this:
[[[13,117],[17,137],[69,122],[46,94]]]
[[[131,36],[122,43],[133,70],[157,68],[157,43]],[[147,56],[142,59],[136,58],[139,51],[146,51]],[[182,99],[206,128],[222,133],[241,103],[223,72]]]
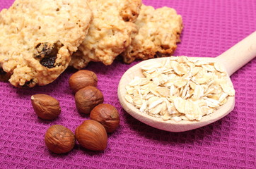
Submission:
[[[229,76],[256,56],[256,31],[217,57]]]

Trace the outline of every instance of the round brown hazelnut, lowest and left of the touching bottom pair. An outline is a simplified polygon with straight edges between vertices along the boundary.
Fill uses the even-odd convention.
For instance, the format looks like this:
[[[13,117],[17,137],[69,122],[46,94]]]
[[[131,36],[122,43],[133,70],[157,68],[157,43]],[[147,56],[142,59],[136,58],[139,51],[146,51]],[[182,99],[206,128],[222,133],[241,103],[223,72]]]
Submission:
[[[56,154],[64,154],[75,146],[75,136],[63,125],[52,125],[45,133],[45,144],[50,151]]]

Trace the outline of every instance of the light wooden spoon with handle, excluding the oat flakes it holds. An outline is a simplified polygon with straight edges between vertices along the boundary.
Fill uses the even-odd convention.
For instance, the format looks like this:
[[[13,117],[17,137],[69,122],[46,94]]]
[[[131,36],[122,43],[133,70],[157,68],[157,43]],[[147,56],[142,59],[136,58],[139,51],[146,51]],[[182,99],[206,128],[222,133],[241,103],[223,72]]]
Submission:
[[[228,49],[220,56],[216,58],[200,58],[204,61],[215,61],[219,64],[223,65],[226,68],[226,73],[228,76],[231,76],[235,73],[236,70],[241,68],[243,65],[248,63],[252,58],[256,56],[256,31],[252,32],[251,35],[243,39],[242,41],[238,42]],[[191,58],[191,57],[190,57]],[[152,127],[156,127],[161,130],[166,130],[170,132],[184,132],[187,130],[193,130],[199,127],[203,127],[205,125],[209,125],[214,123],[216,120],[223,118],[225,115],[228,115],[235,106],[235,96],[229,96],[228,101],[226,104],[223,104],[219,107],[214,113],[209,115],[204,115],[202,120],[200,121],[189,121],[189,120],[182,120],[180,122],[175,122],[174,120],[163,120],[161,118],[154,118],[146,113],[141,113],[139,109],[135,108],[132,104],[124,99],[124,95],[126,94],[125,87],[129,82],[131,82],[135,76],[144,77],[141,74],[141,66],[148,64],[148,63],[156,63],[156,62],[163,62],[167,58],[153,58],[147,61],[141,61],[140,63],[132,66],[129,68],[120,80],[118,86],[118,99],[120,104],[124,108],[127,113],[132,115],[137,120],[150,125]],[[230,80],[230,78],[229,78]]]

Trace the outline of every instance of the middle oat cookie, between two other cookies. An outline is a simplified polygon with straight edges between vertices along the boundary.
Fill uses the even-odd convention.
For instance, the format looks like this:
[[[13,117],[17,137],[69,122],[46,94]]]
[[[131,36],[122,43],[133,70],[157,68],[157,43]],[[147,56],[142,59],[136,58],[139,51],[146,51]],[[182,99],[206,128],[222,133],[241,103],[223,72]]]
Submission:
[[[86,67],[90,61],[110,65],[131,44],[141,0],[93,0],[89,6],[93,21],[70,63],[77,69]]]

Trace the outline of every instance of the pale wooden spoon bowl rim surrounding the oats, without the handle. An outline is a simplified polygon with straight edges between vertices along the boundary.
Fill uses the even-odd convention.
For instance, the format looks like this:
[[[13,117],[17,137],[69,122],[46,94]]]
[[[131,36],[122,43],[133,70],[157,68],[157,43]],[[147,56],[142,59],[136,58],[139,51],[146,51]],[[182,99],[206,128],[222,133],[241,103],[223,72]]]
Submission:
[[[195,58],[195,57],[193,57]],[[149,63],[156,63],[160,62],[163,63],[167,58],[153,58],[149,59],[147,61],[142,61],[136,65],[134,65],[132,68],[129,68],[124,75],[122,76],[120,80],[120,84],[118,87],[118,98],[120,100],[120,104],[124,108],[127,113],[132,115],[137,120],[141,121],[142,123],[145,123],[147,125],[150,125],[152,127],[156,127],[161,130],[166,130],[170,132],[183,132],[187,130],[193,130],[198,127],[202,127],[204,125],[208,125],[210,123],[214,123],[216,120],[219,120],[223,118],[225,115],[230,113],[234,106],[235,106],[235,96],[228,96],[228,100],[226,104],[223,104],[220,106],[214,113],[211,113],[209,115],[204,115],[202,120],[200,121],[190,121],[190,120],[182,120],[180,122],[175,122],[174,120],[163,120],[162,118],[155,118],[151,115],[148,115],[146,113],[141,113],[138,108],[130,104],[126,99],[124,98],[124,95],[126,93],[125,87],[129,82],[132,81],[132,79],[135,76],[138,77],[144,77],[141,73],[141,66],[146,65]],[[216,58],[199,58],[197,57],[197,60],[200,61],[216,61]],[[228,80],[231,81],[231,79],[228,77]]]

